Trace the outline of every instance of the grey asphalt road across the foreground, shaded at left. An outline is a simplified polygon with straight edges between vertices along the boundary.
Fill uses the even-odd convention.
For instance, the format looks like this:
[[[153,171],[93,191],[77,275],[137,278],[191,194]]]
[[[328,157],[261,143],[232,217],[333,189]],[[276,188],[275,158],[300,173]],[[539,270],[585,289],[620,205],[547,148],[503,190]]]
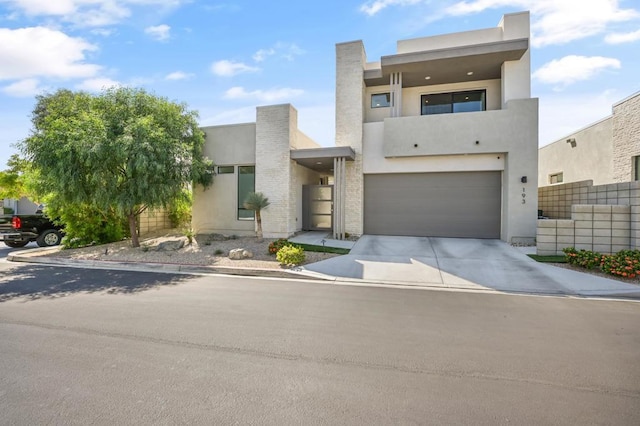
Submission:
[[[640,304],[0,263],[1,424],[640,424]]]

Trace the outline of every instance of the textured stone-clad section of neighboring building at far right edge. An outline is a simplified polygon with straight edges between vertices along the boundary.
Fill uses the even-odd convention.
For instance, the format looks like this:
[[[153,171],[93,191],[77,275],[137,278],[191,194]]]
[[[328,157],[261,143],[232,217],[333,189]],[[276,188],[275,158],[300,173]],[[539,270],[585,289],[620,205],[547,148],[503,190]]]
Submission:
[[[640,92],[613,106],[613,180],[633,179],[633,157],[640,155]]]

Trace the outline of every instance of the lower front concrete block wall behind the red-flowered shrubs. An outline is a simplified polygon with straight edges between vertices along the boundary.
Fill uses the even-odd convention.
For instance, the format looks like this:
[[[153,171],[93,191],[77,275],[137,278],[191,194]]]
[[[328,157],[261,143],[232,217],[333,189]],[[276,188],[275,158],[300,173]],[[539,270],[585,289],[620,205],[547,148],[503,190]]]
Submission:
[[[538,220],[537,254],[562,255],[562,249],[603,254],[628,250],[631,245],[631,207],[620,205],[572,206],[571,219]]]

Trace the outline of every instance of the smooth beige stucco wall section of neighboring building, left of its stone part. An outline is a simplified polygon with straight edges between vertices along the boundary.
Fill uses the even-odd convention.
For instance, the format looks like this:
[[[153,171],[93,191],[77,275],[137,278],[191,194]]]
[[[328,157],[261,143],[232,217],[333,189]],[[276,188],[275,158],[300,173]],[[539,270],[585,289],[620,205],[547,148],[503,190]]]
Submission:
[[[550,185],[550,176],[560,172],[564,183],[588,179],[595,185],[614,182],[612,132],[613,119],[608,117],[540,148],[538,186]],[[576,146],[567,139],[575,139]]]

